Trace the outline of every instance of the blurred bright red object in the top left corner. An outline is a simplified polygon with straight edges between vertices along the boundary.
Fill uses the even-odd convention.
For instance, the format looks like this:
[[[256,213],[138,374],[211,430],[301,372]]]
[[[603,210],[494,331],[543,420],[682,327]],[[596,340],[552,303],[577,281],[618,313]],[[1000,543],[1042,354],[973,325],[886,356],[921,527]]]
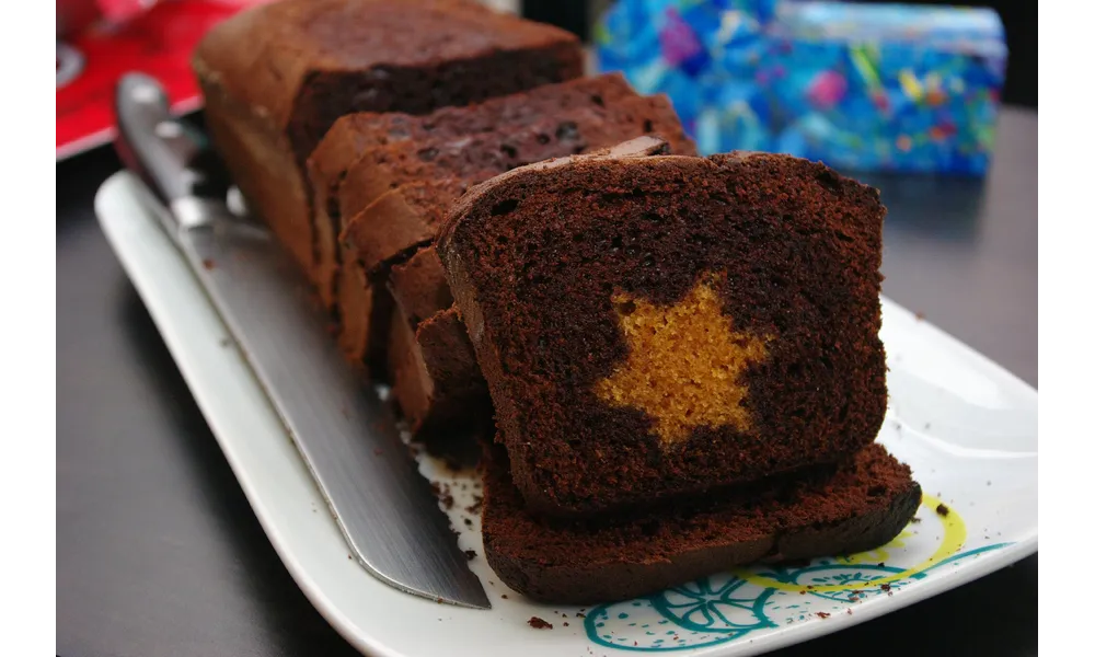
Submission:
[[[175,112],[199,108],[201,96],[189,66],[194,47],[217,22],[244,7],[268,1],[161,0],[147,11],[132,13],[141,2],[100,0],[103,18],[111,13],[108,20],[115,15],[130,20],[105,27],[96,23],[60,48],[54,47],[54,159],[62,160],[114,138],[114,87],[126,72],[157,78]]]

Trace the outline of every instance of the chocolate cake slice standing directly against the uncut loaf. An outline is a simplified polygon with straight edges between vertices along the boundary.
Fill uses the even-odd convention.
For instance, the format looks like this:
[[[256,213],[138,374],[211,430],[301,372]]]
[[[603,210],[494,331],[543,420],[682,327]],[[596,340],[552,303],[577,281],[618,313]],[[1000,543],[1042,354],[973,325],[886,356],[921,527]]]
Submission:
[[[499,126],[517,127],[575,107],[613,106],[633,97],[637,94],[623,76],[608,73],[545,84],[526,93],[485,101],[482,106],[445,107],[425,116],[359,112],[341,117],[308,159],[316,239],[312,277],[324,302],[334,303],[331,281],[339,264],[336,240],[343,223],[338,187],[346,170],[369,149],[405,140],[452,139],[492,131]]]

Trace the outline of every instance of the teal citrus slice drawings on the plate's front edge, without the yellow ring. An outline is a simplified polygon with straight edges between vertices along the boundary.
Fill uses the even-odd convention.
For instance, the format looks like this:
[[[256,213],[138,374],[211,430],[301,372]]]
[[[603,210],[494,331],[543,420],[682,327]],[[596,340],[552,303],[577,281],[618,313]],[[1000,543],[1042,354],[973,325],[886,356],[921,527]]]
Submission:
[[[816,613],[810,609],[810,600],[825,600],[830,604],[819,609],[831,612],[831,603],[853,603],[889,595],[912,580],[927,577],[930,570],[940,566],[1006,545],[1011,543],[954,554],[887,587],[872,583],[892,577],[903,572],[903,567],[825,558],[806,566],[764,566],[757,570],[757,575],[774,581],[800,586],[803,595],[759,586],[730,574],[704,577],[653,596],[596,607],[586,616],[586,635],[598,645],[644,653],[713,646],[738,641],[759,630],[806,621]],[[848,588],[835,591],[807,588],[833,585]]]

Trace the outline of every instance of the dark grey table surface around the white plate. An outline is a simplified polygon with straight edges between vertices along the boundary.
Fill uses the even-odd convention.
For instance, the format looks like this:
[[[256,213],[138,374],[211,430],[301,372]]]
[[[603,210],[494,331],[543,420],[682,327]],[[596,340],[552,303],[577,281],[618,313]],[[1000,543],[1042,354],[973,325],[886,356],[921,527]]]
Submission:
[[[53,620],[60,657],[356,654],[281,565],[95,221],[108,150],[54,173]],[[987,181],[869,178],[884,291],[1041,384],[1041,119]],[[1040,655],[1041,554],[781,655]]]

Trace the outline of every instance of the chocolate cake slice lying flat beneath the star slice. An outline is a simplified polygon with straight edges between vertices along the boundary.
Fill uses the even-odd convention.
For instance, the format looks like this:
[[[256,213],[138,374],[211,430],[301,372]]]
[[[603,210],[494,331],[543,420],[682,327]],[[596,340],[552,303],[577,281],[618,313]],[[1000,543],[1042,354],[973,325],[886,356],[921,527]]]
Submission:
[[[510,588],[556,604],[635,598],[753,562],[873,550],[897,537],[921,502],[909,468],[877,443],[834,471],[590,521],[530,514],[500,448],[484,465],[487,563]]]

